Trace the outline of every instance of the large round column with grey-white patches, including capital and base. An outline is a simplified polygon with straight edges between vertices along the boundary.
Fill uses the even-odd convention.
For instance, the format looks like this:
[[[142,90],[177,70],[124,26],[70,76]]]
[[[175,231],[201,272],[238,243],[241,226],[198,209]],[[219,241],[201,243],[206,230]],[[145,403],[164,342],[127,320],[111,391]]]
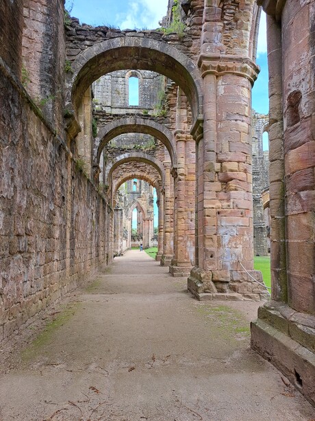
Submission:
[[[253,271],[249,58],[203,54],[203,136],[197,139],[197,266],[188,288],[199,299],[261,299]],[[206,294],[210,296],[205,297]]]

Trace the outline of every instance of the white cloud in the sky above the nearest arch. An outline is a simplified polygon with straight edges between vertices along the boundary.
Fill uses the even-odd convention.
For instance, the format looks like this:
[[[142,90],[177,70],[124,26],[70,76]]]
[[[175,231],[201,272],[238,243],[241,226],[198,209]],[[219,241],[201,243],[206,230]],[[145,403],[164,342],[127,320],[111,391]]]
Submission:
[[[166,15],[167,5],[168,0],[134,0],[129,3],[127,12],[116,16],[116,21],[121,29],[154,29]]]

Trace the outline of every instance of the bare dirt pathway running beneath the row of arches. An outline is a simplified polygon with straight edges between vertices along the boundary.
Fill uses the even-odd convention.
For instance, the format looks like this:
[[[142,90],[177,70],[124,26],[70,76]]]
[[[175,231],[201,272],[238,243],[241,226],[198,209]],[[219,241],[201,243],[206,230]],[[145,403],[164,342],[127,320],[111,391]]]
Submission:
[[[257,303],[185,288],[147,253],[115,258],[2,367],[0,420],[314,421],[249,348]]]

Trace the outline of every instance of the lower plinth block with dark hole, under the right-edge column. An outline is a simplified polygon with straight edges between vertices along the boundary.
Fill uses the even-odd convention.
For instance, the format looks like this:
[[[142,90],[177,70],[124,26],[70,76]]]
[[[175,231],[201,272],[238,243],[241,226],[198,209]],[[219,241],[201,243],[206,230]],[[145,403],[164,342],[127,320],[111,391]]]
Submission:
[[[270,361],[315,405],[315,355],[270,324],[251,323],[251,348]]]

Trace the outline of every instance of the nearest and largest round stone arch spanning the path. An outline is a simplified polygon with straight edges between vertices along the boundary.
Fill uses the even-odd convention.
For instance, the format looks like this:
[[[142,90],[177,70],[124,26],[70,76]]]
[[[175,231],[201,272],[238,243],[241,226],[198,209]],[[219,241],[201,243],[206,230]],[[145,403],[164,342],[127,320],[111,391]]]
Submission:
[[[202,118],[203,84],[199,69],[188,56],[164,41],[143,36],[112,38],[85,49],[71,67],[67,102],[72,102],[75,111],[92,82],[111,71],[138,69],[155,71],[173,80],[188,97],[194,122]]]

